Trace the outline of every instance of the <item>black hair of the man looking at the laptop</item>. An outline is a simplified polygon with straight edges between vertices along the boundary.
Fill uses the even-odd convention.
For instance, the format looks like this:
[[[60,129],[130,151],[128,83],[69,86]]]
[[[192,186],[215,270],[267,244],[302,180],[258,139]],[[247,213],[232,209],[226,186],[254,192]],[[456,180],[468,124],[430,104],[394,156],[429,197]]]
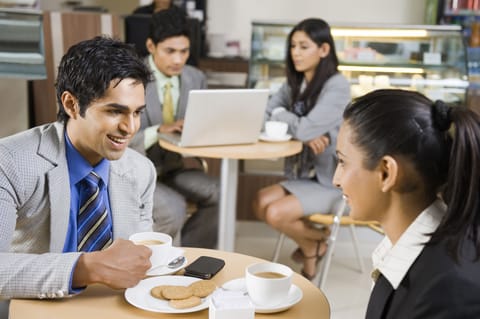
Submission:
[[[190,29],[185,11],[172,6],[152,15],[148,37],[156,45],[165,39],[185,36],[190,39]]]

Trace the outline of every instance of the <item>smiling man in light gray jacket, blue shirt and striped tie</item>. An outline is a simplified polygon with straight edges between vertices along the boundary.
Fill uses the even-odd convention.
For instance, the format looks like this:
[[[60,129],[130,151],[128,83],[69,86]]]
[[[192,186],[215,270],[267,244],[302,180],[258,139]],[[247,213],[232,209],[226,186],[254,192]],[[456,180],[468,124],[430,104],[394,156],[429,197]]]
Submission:
[[[127,146],[149,77],[130,46],[80,42],[58,68],[58,121],[0,139],[0,299],[62,298],[91,283],[127,288],[145,277],[151,251],[126,239],[152,229],[156,174]],[[93,196],[81,200],[90,174],[100,179],[101,211],[83,205]],[[102,214],[85,228],[92,243],[104,236],[100,249],[80,248],[82,211]]]

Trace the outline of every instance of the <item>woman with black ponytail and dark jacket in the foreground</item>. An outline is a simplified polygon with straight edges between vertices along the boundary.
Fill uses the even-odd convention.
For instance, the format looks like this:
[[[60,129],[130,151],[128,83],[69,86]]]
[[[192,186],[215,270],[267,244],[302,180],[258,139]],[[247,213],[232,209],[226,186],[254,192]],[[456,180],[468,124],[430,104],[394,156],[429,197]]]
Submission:
[[[378,90],[343,118],[334,183],[386,234],[366,318],[480,318],[480,117]]]

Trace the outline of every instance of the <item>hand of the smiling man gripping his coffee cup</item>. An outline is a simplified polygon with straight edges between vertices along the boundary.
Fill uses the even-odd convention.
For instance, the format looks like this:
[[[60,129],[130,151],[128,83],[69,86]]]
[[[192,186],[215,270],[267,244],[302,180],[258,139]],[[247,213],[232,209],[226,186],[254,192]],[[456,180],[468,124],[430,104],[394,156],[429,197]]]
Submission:
[[[129,240],[117,239],[102,251],[85,253],[73,272],[73,288],[101,283],[114,289],[130,288],[145,278],[152,251]]]

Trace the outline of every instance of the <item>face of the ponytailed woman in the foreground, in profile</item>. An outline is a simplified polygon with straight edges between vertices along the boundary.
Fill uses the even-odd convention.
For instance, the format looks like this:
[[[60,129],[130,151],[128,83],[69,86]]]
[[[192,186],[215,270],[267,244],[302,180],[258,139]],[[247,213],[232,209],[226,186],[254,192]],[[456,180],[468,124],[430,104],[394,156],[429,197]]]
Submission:
[[[342,189],[350,207],[350,216],[357,220],[381,220],[384,193],[381,191],[382,173],[364,167],[364,153],[353,144],[352,128],[343,123],[337,138],[338,164],[333,177],[335,186]]]

